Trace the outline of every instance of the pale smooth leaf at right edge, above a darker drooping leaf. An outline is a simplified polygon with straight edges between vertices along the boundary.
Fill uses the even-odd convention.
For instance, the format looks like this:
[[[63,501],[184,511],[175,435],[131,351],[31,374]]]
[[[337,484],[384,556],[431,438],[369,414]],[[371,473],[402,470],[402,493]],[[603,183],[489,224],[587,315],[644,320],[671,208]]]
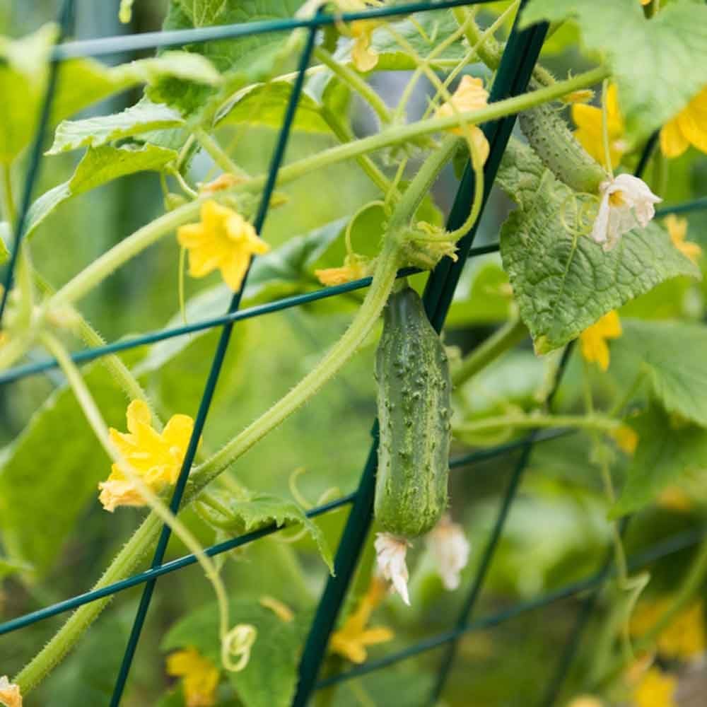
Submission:
[[[648,375],[653,395],[671,413],[707,427],[707,327],[685,322],[622,320],[612,358]]]

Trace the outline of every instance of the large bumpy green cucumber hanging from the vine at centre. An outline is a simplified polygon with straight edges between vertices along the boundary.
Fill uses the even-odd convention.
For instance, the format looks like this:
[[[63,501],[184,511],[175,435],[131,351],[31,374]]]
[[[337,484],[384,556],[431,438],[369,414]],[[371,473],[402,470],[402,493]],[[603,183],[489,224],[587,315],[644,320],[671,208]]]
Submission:
[[[392,293],[383,311],[375,373],[375,518],[387,532],[416,537],[447,507],[451,382],[440,337],[411,288]]]

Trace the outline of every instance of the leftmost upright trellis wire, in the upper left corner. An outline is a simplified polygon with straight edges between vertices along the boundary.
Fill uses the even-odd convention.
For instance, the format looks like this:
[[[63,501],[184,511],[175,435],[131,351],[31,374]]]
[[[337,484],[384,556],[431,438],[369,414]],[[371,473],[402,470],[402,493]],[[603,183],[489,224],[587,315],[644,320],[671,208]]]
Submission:
[[[71,23],[73,9],[74,0],[64,0],[64,5],[59,13],[59,33],[57,33],[57,38],[54,41],[54,47],[60,45],[64,40],[66,33],[69,32],[69,24]],[[20,248],[22,247],[22,240],[25,235],[27,213],[30,210],[32,192],[34,191],[35,183],[37,182],[37,177],[39,177],[40,173],[40,163],[42,162],[42,144],[44,143],[47,127],[49,127],[49,119],[52,115],[52,103],[54,102],[54,95],[57,93],[58,80],[59,61],[56,59],[51,59],[49,62],[47,89],[45,90],[44,100],[42,100],[40,119],[37,124],[35,141],[32,145],[32,151],[30,153],[30,165],[27,170],[27,175],[25,176],[25,189],[22,193],[22,201],[20,204],[20,210],[18,211],[17,221],[14,224],[15,238],[12,245],[10,262],[8,263],[5,271],[5,279],[3,283],[4,289],[0,295],[0,322],[2,322],[2,317],[5,313],[5,308],[7,305],[7,298],[10,295],[10,290],[13,284],[17,259],[20,255]],[[7,98],[5,98],[5,100],[7,100]],[[9,220],[10,218],[8,216],[8,221]],[[13,224],[11,223],[10,226],[13,226]]]

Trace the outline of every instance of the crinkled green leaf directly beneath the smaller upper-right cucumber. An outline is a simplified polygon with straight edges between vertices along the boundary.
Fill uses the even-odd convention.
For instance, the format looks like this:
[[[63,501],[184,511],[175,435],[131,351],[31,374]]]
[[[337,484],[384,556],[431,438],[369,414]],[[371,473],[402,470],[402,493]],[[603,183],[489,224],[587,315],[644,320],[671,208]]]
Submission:
[[[609,252],[589,235],[568,233],[563,210],[574,194],[539,166],[530,148],[510,146],[499,181],[520,201],[501,228],[501,258],[539,354],[664,280],[700,277],[655,222],[629,231]]]

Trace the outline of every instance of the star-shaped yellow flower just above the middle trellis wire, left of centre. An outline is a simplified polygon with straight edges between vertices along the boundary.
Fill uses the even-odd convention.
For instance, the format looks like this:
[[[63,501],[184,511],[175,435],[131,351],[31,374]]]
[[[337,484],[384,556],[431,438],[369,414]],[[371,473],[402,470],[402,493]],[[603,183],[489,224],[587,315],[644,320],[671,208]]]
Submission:
[[[250,257],[269,250],[243,216],[211,199],[201,204],[200,223],[177,228],[177,240],[189,250],[192,277],[204,277],[218,268],[233,291],[240,289]]]

